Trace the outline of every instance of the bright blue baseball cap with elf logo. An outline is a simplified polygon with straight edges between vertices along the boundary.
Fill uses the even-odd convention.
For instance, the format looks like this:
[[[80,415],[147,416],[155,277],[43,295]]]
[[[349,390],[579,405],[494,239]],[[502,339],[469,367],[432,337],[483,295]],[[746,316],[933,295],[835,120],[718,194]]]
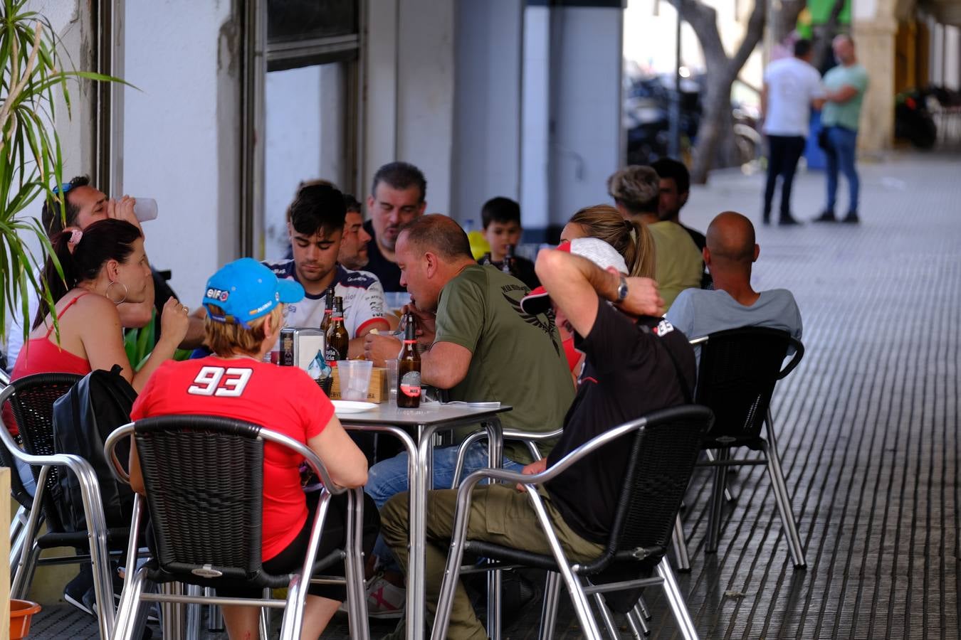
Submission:
[[[248,322],[266,316],[281,302],[297,302],[304,287],[294,280],[282,280],[254,258],[240,258],[224,265],[207,281],[204,306],[210,320],[237,322],[246,329]],[[211,305],[223,313],[216,313]]]

